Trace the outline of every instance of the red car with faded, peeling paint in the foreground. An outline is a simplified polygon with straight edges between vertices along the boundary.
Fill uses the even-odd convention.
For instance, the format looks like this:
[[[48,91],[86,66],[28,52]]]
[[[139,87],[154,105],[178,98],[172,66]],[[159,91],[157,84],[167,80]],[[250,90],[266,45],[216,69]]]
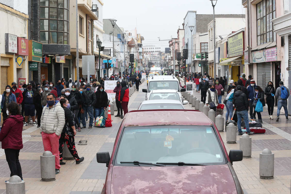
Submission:
[[[215,124],[196,110],[143,110],[126,114],[112,155],[98,152],[108,167],[102,193],[243,193]]]

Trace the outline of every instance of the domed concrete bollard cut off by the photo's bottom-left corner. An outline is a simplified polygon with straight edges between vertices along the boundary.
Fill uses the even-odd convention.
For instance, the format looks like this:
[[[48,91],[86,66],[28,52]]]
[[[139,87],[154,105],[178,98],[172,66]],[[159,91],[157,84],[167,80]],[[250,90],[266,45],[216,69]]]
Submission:
[[[10,177],[6,184],[6,194],[25,194],[25,182],[17,175]]]

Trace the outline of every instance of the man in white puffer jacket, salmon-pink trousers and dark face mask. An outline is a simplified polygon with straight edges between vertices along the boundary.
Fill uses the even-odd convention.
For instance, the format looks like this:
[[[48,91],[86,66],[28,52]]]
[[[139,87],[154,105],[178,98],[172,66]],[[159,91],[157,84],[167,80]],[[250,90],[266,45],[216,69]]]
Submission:
[[[59,143],[65,125],[65,111],[53,93],[47,95],[47,105],[42,109],[40,119],[40,134],[45,151],[55,155],[56,174],[60,172]]]

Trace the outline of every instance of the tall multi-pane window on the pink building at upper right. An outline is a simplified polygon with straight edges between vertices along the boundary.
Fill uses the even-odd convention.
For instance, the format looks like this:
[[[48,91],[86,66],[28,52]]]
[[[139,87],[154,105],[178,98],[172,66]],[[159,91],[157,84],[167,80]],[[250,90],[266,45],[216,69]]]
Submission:
[[[272,19],[276,18],[276,1],[263,0],[257,4],[257,45],[276,41]]]

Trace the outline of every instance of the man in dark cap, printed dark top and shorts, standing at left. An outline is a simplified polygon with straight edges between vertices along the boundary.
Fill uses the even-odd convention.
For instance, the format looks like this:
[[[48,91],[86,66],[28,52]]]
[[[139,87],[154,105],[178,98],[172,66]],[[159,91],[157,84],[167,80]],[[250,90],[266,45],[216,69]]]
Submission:
[[[33,126],[36,126],[35,122],[35,111],[36,108],[33,103],[33,96],[36,94],[36,90],[32,88],[32,84],[27,84],[27,89],[22,93],[23,95],[23,104],[24,104],[24,119],[25,122],[23,126],[27,126],[28,117],[30,116],[33,121]]]

